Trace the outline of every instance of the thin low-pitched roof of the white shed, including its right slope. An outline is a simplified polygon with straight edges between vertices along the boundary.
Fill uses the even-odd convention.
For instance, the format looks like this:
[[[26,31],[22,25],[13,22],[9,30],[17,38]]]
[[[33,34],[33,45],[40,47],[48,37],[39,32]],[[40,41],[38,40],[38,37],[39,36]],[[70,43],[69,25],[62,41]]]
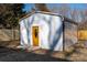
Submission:
[[[51,15],[56,15],[56,17],[61,17],[63,19],[63,22],[69,22],[69,23],[73,23],[73,24],[78,24],[77,22],[73,21],[72,19],[69,18],[66,18],[66,17],[63,17],[62,14],[57,14],[57,13],[53,13],[53,12],[44,12],[44,11],[32,11],[30,13],[28,13],[25,17],[21,18],[19,21],[28,18],[28,17],[31,17],[32,14],[34,13],[43,13],[43,14],[51,14]]]

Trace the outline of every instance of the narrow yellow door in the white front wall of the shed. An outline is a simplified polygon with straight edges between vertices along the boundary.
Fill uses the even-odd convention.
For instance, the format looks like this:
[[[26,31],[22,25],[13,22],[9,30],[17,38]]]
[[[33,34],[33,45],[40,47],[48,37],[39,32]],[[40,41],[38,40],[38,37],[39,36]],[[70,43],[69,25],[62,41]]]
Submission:
[[[39,26],[32,28],[33,46],[39,46]]]

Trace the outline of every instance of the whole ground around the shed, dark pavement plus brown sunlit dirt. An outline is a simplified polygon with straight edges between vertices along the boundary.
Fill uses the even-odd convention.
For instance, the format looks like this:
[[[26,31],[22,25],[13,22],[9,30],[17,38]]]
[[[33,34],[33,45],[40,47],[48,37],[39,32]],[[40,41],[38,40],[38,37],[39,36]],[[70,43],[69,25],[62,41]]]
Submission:
[[[87,62],[87,46],[84,43],[78,42],[64,52],[47,54],[46,50],[17,50],[18,41],[0,42],[0,62]]]

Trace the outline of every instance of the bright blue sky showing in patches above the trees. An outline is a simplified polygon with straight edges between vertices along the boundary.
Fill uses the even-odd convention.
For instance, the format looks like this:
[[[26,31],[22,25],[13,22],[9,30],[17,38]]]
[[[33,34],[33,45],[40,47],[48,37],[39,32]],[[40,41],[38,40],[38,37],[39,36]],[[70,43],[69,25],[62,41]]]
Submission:
[[[47,3],[46,6],[51,9],[53,7],[58,7],[61,3]],[[86,3],[67,3],[70,9],[87,9]],[[31,9],[34,7],[34,3],[25,3],[25,8],[23,9],[24,11],[31,11]]]

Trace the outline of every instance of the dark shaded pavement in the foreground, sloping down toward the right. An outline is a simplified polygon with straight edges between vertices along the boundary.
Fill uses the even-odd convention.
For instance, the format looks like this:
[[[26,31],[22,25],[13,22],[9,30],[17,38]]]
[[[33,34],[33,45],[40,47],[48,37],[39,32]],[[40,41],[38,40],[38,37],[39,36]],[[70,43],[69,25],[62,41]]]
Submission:
[[[0,47],[0,62],[66,62],[50,55],[41,55],[21,50]]]

